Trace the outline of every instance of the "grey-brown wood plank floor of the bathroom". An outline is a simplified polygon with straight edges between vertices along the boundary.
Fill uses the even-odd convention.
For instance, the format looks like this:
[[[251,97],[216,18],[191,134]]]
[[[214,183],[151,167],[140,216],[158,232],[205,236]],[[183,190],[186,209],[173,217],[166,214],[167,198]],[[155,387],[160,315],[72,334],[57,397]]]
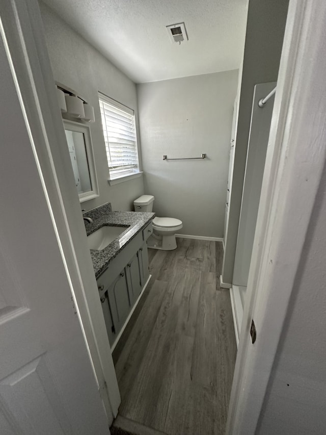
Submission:
[[[152,278],[113,357],[124,421],[168,434],[224,434],[236,343],[221,242],[149,249]]]

